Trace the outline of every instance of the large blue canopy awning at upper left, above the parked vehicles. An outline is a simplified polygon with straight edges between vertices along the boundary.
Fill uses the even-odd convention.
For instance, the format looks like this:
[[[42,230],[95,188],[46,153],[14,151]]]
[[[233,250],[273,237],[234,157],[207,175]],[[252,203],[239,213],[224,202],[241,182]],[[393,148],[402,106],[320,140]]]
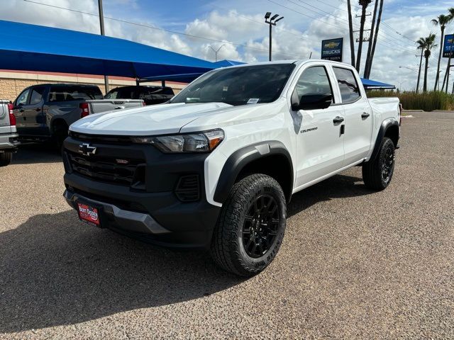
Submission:
[[[0,67],[145,78],[204,73],[206,60],[74,30],[0,21]]]

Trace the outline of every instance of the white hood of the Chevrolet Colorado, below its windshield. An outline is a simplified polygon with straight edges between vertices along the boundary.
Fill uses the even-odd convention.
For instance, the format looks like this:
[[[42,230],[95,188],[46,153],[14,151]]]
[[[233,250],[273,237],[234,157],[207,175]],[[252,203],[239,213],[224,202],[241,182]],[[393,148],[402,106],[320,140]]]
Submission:
[[[97,113],[77,120],[74,132],[92,135],[165,135],[178,133],[184,125],[212,111],[231,108],[226,103],[175,103]]]

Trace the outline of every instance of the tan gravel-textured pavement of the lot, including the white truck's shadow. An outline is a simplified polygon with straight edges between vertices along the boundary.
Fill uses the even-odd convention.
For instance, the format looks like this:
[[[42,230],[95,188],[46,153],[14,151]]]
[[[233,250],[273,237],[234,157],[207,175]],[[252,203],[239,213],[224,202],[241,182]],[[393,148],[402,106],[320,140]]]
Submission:
[[[411,113],[391,186],[360,168],[289,206],[254,278],[77,220],[63,166],[26,147],[0,169],[1,339],[453,339],[454,113]]]

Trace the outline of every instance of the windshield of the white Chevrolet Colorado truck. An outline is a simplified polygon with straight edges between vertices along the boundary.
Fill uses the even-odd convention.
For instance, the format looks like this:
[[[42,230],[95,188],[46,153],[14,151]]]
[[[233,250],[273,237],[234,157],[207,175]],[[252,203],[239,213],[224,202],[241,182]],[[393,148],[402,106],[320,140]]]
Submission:
[[[189,84],[170,103],[270,103],[279,97],[294,67],[267,64],[212,71]]]

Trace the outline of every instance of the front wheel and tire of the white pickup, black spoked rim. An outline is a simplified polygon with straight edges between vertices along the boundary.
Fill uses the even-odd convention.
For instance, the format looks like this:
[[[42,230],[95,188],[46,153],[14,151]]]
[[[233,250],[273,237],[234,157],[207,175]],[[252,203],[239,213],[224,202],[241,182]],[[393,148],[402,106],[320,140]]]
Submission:
[[[284,238],[287,205],[275,179],[254,174],[233,186],[211,242],[211,256],[226,271],[253,276],[275,258]]]

